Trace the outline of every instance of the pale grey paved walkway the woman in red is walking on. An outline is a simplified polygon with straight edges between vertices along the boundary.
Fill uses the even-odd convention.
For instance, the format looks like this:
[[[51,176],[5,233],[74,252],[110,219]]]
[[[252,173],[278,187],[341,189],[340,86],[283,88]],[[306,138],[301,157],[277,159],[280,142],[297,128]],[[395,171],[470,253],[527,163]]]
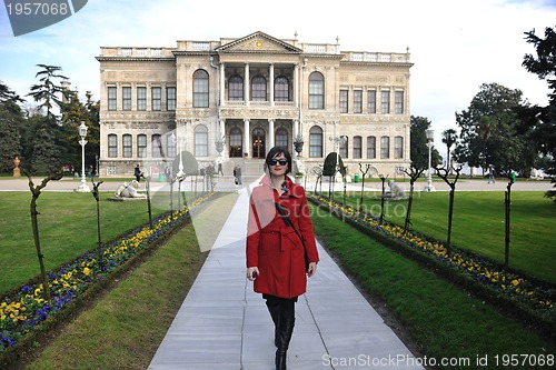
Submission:
[[[244,188],[149,370],[274,369],[274,324],[245,278],[247,210]],[[321,246],[319,252],[297,303],[288,368],[423,369]]]

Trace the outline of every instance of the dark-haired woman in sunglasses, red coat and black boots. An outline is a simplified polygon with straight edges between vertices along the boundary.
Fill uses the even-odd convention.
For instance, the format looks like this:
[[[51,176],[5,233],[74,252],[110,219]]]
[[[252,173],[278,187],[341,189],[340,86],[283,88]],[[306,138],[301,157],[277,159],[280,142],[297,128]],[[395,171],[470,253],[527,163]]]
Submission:
[[[266,166],[269,173],[250,197],[247,278],[266,299],[275,323],[276,369],[281,370],[286,369],[286,352],[294,332],[295,303],[306,292],[307,277],[317,270],[318,251],[305,189],[287,176],[291,170],[290,153],[284,147],[275,147],[267,153]]]

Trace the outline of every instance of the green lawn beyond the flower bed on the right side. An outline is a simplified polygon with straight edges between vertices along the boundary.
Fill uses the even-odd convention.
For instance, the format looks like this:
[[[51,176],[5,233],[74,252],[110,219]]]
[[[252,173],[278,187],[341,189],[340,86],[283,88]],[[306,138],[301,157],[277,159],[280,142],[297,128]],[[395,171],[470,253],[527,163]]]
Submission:
[[[556,283],[556,206],[542,191],[513,191],[510,208],[509,266]],[[342,201],[342,193],[335,200]],[[380,214],[376,193],[364,197],[364,209]],[[379,194],[378,194],[379,196]],[[411,228],[446,241],[448,230],[448,192],[416,193],[411,209]],[[351,192],[346,202],[359,207],[360,192]],[[384,218],[404,226],[408,201],[386,201]],[[504,192],[456,191],[451,244],[504,263]]]

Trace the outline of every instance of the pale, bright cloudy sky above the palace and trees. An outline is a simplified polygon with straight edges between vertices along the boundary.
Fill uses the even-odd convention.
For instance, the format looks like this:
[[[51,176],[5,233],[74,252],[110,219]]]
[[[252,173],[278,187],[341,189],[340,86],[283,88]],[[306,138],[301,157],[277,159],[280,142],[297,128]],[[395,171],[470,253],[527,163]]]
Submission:
[[[0,6],[1,7],[1,6]],[[556,0],[89,0],[79,12],[13,37],[0,10],[0,80],[20,96],[37,83],[36,64],[59,66],[72,88],[99,98],[100,47],[176,47],[262,31],[278,39],[336,43],[342,51],[405,52],[409,48],[410,112],[440,132],[469,107],[481,83],[519,89],[546,106],[545,81],[523,67],[533,46],[524,32],[556,26]],[[32,101],[32,100],[29,100]],[[445,150],[444,150],[445,151]]]

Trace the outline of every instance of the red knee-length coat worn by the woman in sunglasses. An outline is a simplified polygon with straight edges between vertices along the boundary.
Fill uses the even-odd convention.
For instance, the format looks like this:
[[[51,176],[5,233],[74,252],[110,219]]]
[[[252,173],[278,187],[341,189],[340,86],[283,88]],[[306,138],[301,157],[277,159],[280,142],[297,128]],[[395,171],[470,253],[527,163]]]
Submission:
[[[305,189],[287,178],[288,191],[281,197],[270,187],[268,176],[252,189],[247,223],[247,267],[257,267],[254,290],[281,298],[294,298],[307,290],[304,244],[276,210],[279,202],[305,239],[309,262],[318,262],[318,251],[309,217]]]

